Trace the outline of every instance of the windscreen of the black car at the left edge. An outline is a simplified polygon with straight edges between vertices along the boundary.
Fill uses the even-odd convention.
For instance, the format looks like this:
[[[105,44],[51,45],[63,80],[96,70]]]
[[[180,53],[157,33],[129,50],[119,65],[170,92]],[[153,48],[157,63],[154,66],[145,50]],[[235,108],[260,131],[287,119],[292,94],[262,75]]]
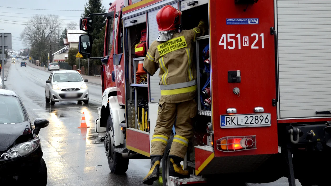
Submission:
[[[14,96],[0,95],[0,124],[15,124],[26,121],[20,100]]]

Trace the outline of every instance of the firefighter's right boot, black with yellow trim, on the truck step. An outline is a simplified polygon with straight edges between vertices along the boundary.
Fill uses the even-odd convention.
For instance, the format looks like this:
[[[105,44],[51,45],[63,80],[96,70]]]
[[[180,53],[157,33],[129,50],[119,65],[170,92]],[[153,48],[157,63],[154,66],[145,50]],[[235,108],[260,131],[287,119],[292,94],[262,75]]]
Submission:
[[[189,178],[190,174],[187,170],[183,170],[180,162],[184,159],[178,156],[170,155],[170,168],[169,168],[169,176],[174,176],[178,178]]]

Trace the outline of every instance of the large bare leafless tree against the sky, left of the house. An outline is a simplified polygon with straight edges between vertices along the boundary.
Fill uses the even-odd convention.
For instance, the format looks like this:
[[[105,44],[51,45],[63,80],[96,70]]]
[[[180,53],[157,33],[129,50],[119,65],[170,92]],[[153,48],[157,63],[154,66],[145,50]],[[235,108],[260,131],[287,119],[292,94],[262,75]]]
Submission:
[[[56,15],[34,15],[28,20],[21,33],[21,39],[31,47],[30,54],[34,58],[43,56],[46,59],[45,50],[49,50],[47,45],[57,44],[60,25],[59,17]]]

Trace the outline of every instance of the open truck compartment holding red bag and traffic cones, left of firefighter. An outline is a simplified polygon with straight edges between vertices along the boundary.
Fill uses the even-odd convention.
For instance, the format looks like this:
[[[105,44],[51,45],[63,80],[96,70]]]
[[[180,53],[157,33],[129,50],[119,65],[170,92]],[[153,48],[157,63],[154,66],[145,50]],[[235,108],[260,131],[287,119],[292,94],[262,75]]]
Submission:
[[[142,62],[146,56],[147,46],[146,46],[146,15],[136,16],[125,20],[124,27],[127,33],[127,50],[126,54],[126,70],[127,78],[126,83],[130,86],[127,86],[126,97],[127,97],[127,127],[133,128],[136,130],[141,130],[141,132],[149,132],[148,126],[148,85],[147,85],[147,76],[144,81],[137,80],[137,71],[139,71],[138,66],[142,70]],[[144,36],[145,34],[145,36]],[[142,37],[145,37],[144,39]],[[143,42],[141,40],[144,40]],[[145,45],[145,47],[142,47]],[[138,49],[138,50],[137,50]],[[138,53],[137,53],[138,51]],[[137,55],[138,54],[138,55]],[[140,62],[140,65],[139,65]],[[145,72],[140,72],[140,75],[146,74]]]

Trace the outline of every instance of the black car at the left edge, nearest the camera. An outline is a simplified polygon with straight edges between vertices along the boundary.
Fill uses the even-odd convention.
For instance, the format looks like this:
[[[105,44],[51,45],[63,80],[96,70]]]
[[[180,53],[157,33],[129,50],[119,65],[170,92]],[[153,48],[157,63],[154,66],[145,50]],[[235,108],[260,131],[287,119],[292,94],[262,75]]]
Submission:
[[[49,121],[41,118],[33,125],[18,94],[0,90],[0,180],[6,183],[2,185],[47,184],[38,134],[48,125]],[[13,183],[16,181],[22,184]]]

